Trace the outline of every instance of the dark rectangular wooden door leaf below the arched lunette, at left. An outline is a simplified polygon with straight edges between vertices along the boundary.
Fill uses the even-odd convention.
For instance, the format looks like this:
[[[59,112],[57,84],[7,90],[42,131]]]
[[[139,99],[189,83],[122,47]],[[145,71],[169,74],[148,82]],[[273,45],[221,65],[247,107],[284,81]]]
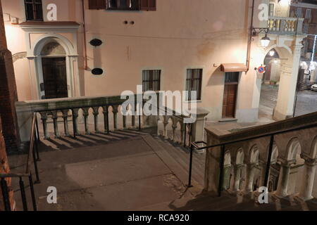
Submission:
[[[67,98],[66,58],[42,58],[45,98]]]

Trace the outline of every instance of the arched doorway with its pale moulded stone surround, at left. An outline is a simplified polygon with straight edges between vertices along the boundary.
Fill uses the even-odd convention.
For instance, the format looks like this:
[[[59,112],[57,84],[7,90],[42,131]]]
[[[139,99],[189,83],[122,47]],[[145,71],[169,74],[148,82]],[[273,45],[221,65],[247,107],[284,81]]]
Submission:
[[[66,37],[45,34],[35,41],[28,54],[31,53],[34,55],[38,98],[80,95],[79,80],[74,75],[77,50]]]

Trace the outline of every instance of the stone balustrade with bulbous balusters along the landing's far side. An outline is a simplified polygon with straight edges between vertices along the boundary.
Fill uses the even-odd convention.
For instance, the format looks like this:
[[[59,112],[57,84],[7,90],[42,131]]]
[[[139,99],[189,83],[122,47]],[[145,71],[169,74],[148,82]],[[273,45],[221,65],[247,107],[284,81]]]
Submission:
[[[137,99],[135,95],[135,99]],[[25,101],[16,103],[18,124],[22,141],[28,141],[30,132],[30,120],[32,113],[37,112],[44,133],[44,139],[49,139],[49,131],[54,131],[54,137],[70,135],[89,135],[106,133],[117,129],[139,129],[157,127],[157,134],[166,139],[178,143],[190,145],[190,141],[201,140],[204,137],[204,119],[209,113],[206,110],[197,109],[197,121],[193,124],[184,124],[184,115],[178,115],[175,111],[161,107],[163,113],[141,117],[135,115],[125,116],[121,113],[125,99],[120,96],[80,97],[80,98],[56,98],[40,101]],[[131,106],[131,105],[129,105]],[[137,103],[135,103],[137,111]],[[166,115],[164,115],[164,112]],[[171,127],[168,122],[172,121]],[[163,129],[160,127],[163,123]],[[89,124],[93,124],[93,130],[89,130]],[[63,131],[61,130],[63,126]],[[50,129],[50,126],[52,129]],[[72,127],[70,127],[72,126]],[[82,131],[80,131],[80,127]],[[186,132],[186,135],[185,135]]]

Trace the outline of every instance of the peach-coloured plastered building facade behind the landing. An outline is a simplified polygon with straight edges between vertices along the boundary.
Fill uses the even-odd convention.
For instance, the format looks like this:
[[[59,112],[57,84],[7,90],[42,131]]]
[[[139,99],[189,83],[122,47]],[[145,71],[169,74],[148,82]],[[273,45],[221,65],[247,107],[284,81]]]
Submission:
[[[269,20],[259,16],[261,4],[275,5]],[[275,118],[290,117],[302,20],[287,18],[287,0],[255,0],[253,18],[252,6],[251,0],[3,1],[19,101],[118,96],[142,85],[197,91],[209,121],[256,122],[262,75],[254,68],[275,49],[282,58]],[[263,32],[250,37],[251,23],[268,27],[266,48]]]

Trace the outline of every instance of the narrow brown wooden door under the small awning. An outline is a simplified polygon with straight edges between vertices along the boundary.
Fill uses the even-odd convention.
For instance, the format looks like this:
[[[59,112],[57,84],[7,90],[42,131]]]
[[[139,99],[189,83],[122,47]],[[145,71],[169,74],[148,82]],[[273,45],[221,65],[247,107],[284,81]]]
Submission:
[[[237,101],[237,84],[225,84],[223,94],[223,118],[235,117],[235,105]]]

